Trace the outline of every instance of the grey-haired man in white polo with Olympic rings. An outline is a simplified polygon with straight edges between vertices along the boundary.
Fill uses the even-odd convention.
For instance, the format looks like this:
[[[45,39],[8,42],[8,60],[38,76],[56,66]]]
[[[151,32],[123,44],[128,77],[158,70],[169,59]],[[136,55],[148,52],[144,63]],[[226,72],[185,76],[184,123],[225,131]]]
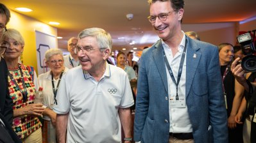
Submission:
[[[81,66],[69,70],[58,89],[56,135],[62,142],[132,141],[132,89],[127,74],[107,63],[112,49],[109,33],[100,28],[78,34]]]

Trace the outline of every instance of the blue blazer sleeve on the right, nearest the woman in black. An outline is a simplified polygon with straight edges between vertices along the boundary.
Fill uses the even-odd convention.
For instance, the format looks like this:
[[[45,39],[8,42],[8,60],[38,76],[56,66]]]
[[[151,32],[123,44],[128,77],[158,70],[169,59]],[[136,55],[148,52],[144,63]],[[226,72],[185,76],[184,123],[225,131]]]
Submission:
[[[207,80],[209,89],[209,117],[213,128],[214,142],[228,142],[227,115],[225,99],[222,90],[221,73],[219,66],[219,52],[214,48],[207,68]]]

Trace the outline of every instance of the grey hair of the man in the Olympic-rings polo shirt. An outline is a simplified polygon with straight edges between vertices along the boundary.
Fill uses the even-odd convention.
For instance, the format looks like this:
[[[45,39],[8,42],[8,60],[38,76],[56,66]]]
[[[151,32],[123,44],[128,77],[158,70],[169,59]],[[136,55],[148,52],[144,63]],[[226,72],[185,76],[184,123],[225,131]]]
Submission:
[[[87,36],[93,36],[96,38],[99,49],[108,48],[110,49],[110,52],[111,52],[112,40],[111,40],[110,34],[107,33],[107,31],[101,28],[93,27],[93,28],[84,29],[78,34],[79,39],[85,38]]]

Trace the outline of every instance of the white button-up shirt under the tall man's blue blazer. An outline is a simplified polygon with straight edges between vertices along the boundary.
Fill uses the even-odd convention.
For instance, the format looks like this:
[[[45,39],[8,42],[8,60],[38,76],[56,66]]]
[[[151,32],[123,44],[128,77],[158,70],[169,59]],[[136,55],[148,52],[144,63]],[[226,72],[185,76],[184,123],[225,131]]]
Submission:
[[[183,31],[182,31],[183,33]],[[180,66],[180,60],[182,58],[182,52],[185,47],[185,34],[183,33],[182,41],[178,47],[178,52],[173,56],[171,52],[171,48],[162,41],[162,45],[164,47],[164,52],[166,53],[166,57],[168,63],[171,66],[171,70],[173,71],[173,75],[177,82],[178,77],[178,69]],[[185,99],[185,83],[186,83],[186,58],[187,54],[185,55],[182,75],[180,77],[180,83],[178,84],[178,95]],[[169,99],[175,98],[176,96],[176,84],[171,79],[171,76],[166,67],[166,74],[167,74],[167,82],[168,82],[168,94]],[[191,133],[192,132],[192,124],[189,120],[189,112],[187,111],[187,105],[185,108],[172,108],[169,102],[169,119],[170,119],[170,129],[169,132],[171,133]]]

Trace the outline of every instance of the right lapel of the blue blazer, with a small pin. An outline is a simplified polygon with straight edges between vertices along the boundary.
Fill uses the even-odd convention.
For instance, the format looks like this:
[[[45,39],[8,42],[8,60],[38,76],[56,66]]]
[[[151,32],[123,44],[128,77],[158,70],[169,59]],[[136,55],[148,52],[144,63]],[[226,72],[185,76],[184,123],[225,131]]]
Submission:
[[[198,68],[201,53],[198,52],[200,48],[192,44],[192,40],[188,38],[187,42],[187,65],[186,65],[186,97],[191,89],[192,80],[194,79],[194,74]]]

